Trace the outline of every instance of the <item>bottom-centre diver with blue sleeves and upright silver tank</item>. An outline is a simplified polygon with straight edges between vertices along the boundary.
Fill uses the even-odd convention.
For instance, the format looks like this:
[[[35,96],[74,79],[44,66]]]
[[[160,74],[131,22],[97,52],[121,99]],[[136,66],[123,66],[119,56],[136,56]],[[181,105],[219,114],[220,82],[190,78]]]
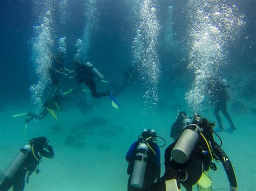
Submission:
[[[127,190],[145,190],[160,178],[160,149],[155,143],[157,137],[153,129],[144,129],[127,152],[127,174],[130,175]]]

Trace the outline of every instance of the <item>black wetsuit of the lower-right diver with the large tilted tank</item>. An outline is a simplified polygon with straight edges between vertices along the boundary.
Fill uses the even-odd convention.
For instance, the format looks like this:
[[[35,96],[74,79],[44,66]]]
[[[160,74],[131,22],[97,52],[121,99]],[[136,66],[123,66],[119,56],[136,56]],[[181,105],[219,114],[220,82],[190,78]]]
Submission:
[[[228,159],[222,148],[214,142],[211,130],[204,129],[203,135],[207,141],[211,142],[214,159],[220,160],[223,163],[230,186],[237,187],[237,181],[235,179],[235,174],[230,159]],[[180,183],[186,188],[186,190],[192,190],[192,186],[197,183],[202,172],[208,171],[212,165],[210,152],[208,152],[208,147],[205,140],[200,136],[188,161],[185,164],[179,164],[174,160],[171,160],[171,152],[176,143],[177,142],[173,142],[165,150],[165,173],[173,174],[172,171],[176,171],[177,174],[181,173],[182,171],[187,172],[187,180]]]

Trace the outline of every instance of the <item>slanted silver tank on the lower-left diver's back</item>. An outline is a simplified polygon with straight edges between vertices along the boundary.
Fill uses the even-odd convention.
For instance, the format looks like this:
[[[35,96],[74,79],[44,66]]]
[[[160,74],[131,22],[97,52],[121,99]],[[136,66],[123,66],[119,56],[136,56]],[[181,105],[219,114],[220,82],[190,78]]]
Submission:
[[[18,169],[21,167],[23,162],[28,158],[29,152],[32,151],[31,145],[25,145],[21,151],[18,152],[14,160],[11,161],[10,165],[5,169],[3,176],[7,179],[12,179]]]

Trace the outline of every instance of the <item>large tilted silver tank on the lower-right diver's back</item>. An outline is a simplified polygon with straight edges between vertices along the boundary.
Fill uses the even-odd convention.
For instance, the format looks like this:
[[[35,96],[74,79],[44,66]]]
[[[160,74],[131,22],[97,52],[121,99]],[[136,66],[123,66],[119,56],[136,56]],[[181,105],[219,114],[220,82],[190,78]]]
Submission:
[[[188,160],[202,131],[196,124],[189,124],[186,128],[171,152],[172,159],[179,164],[184,164]]]

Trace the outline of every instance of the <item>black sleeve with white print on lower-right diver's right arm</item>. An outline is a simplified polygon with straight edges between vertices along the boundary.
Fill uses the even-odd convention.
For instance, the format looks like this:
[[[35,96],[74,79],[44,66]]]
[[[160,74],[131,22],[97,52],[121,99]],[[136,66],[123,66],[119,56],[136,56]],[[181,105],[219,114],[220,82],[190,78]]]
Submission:
[[[237,188],[237,180],[235,179],[235,174],[230,159],[227,157],[226,153],[217,143],[213,142],[212,148],[213,153],[218,157],[218,159],[223,164],[223,167],[227,174],[228,181],[230,182],[230,186],[233,188]],[[232,188],[230,189],[232,190]]]

